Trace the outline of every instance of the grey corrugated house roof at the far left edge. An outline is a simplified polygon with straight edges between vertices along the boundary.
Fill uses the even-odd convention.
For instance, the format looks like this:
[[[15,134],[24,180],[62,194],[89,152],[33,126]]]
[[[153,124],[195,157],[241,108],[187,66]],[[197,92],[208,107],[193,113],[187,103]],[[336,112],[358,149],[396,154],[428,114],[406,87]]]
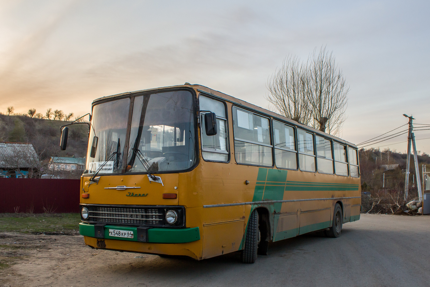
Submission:
[[[38,160],[31,143],[0,142],[0,168],[30,168]]]

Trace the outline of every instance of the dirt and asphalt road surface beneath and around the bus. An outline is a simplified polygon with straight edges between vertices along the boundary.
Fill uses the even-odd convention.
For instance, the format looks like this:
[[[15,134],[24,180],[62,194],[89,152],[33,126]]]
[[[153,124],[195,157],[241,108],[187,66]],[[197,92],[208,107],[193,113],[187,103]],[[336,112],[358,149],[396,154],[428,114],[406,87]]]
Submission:
[[[429,286],[430,216],[362,215],[339,238],[276,242],[255,264],[239,253],[161,258],[93,250],[81,236],[0,234],[1,286]],[[8,256],[8,257],[5,257]]]

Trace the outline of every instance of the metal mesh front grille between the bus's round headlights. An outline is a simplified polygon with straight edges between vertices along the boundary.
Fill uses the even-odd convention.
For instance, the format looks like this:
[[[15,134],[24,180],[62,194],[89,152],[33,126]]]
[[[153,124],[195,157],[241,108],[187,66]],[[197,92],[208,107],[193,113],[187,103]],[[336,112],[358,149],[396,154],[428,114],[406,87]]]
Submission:
[[[89,206],[91,222],[163,225],[163,208]]]

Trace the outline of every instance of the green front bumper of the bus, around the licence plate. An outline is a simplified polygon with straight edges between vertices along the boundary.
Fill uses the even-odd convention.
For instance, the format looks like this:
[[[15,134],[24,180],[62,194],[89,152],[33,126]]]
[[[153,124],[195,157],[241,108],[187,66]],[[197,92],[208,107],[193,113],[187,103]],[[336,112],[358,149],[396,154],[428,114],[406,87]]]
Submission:
[[[104,225],[104,239],[138,241],[137,240],[137,227],[132,226],[115,226]],[[109,229],[116,229],[122,231],[133,231],[133,238],[122,238],[109,235]],[[96,237],[95,228],[93,224],[79,223],[80,235]],[[187,243],[200,240],[200,232],[198,227],[194,228],[151,228],[148,229],[147,242],[150,243]]]

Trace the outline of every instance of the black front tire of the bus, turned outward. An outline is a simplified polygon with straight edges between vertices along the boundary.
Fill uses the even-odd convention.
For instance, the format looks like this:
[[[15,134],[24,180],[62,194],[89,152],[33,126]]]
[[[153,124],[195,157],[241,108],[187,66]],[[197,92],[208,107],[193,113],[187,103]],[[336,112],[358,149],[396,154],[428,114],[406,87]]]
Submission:
[[[254,263],[258,249],[258,212],[252,211],[246,229],[245,248],[242,251],[243,263]]]

